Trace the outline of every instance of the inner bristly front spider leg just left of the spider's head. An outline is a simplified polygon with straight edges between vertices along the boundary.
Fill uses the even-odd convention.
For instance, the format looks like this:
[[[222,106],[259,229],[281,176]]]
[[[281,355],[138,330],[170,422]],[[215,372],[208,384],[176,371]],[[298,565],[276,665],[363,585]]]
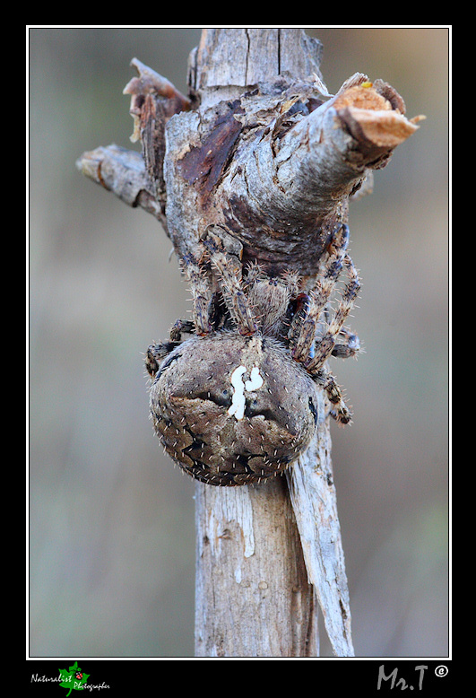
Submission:
[[[251,306],[248,303],[247,295],[242,284],[242,265],[238,257],[241,253],[241,245],[239,249],[233,243],[237,242],[225,231],[218,234],[218,226],[210,226],[206,233],[206,238],[203,244],[208,249],[212,266],[218,271],[222,286],[223,300],[225,301],[229,314],[238,327],[240,335],[254,335],[257,329],[255,317]],[[223,240],[230,238],[229,249],[225,247]]]

